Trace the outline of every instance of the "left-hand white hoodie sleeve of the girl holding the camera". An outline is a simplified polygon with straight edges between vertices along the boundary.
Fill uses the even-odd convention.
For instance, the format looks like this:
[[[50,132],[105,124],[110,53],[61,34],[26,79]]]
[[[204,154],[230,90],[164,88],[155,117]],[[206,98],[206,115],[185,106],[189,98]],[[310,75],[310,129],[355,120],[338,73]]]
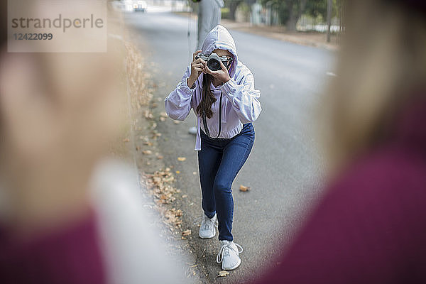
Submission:
[[[195,93],[195,88],[191,89],[187,85],[187,78],[190,77],[190,67],[187,68],[182,80],[178,83],[176,89],[170,92],[165,98],[165,112],[170,119],[185,120],[190,114],[192,107],[192,94]]]

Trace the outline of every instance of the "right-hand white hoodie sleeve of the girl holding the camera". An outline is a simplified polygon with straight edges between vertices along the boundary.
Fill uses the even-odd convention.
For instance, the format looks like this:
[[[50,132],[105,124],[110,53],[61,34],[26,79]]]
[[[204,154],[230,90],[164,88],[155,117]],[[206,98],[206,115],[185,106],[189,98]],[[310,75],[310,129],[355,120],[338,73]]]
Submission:
[[[247,124],[255,121],[262,111],[261,103],[258,100],[261,91],[254,89],[254,77],[250,71],[239,82],[241,84],[237,84],[234,79],[231,79],[221,89],[231,102],[240,121]]]

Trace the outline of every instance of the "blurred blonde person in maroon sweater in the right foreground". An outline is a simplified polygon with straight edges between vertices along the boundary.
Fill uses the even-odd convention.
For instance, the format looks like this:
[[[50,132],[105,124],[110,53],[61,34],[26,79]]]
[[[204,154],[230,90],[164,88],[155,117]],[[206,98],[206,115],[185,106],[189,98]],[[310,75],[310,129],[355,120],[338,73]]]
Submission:
[[[257,283],[426,283],[426,2],[346,4],[329,185]]]

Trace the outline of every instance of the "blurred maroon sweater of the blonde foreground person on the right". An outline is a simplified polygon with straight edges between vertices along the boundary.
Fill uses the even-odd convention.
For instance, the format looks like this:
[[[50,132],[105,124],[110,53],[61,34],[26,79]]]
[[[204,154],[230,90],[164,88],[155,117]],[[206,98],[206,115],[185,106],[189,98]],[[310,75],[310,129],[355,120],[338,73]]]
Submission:
[[[426,283],[426,101],[351,165],[258,283]]]

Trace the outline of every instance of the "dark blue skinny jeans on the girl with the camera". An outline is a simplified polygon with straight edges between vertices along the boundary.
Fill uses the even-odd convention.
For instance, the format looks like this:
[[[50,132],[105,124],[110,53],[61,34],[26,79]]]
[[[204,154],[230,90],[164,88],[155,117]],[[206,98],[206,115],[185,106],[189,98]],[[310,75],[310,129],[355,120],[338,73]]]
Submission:
[[[249,157],[254,143],[252,124],[244,124],[232,138],[209,138],[201,131],[198,167],[202,192],[202,209],[207,217],[217,213],[219,240],[232,241],[234,200],[232,182]]]

